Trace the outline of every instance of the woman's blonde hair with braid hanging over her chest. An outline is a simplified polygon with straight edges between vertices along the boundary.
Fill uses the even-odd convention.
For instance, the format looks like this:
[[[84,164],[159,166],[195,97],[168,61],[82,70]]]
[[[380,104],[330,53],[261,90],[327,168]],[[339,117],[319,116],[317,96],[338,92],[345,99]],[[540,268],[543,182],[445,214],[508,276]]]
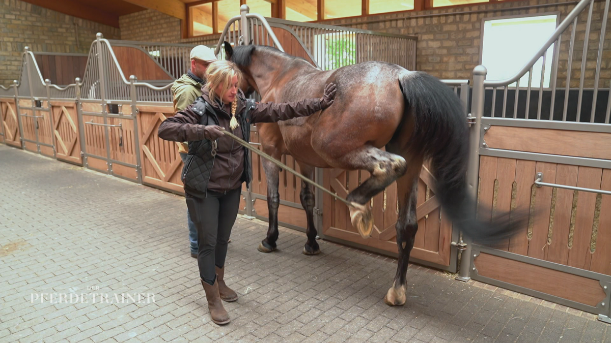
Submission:
[[[206,70],[206,80],[207,83],[205,88],[208,90],[210,94],[210,100],[214,101],[216,98],[221,98],[227,90],[231,87],[231,81],[233,76],[238,76],[238,84],[241,84],[242,81],[242,72],[238,68],[238,66],[228,60],[219,60],[213,63],[210,63],[208,69]],[[217,95],[214,90],[221,86],[221,95]],[[229,123],[230,128],[233,130],[240,126],[238,124],[238,120],[235,118],[235,110],[238,107],[238,97],[236,96],[235,100],[231,104],[231,121]]]

